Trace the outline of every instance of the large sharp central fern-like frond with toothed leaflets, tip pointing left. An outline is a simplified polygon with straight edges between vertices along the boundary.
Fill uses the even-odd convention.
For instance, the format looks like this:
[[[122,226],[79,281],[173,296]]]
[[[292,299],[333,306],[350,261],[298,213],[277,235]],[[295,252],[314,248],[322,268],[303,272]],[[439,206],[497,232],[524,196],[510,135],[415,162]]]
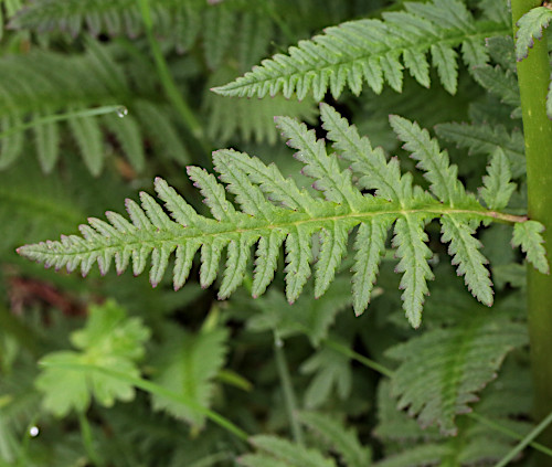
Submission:
[[[146,267],[151,254],[150,280],[156,286],[162,278],[171,254],[176,253],[173,284],[185,283],[193,257],[201,248],[200,283],[210,286],[217,275],[219,263],[226,248],[226,265],[219,297],[229,297],[243,282],[256,244],[252,294],[263,294],[273,280],[282,245],[286,254],[286,295],[297,299],[315,264],[315,295],[320,297],[333,280],[347,254],[349,233],[355,229],[352,266],[353,307],[360,315],[370,301],[378,267],[385,251],[388,231],[393,229],[392,246],[399,258],[397,273],[403,273],[400,287],[403,307],[412,326],[418,327],[422,306],[433,279],[428,259],[432,252],[425,226],[433,219],[442,224],[442,241],[449,243],[448,253],[457,273],[463,275],[473,295],[486,305],[492,304],[492,284],[487,259],[474,236],[476,229],[489,222],[514,225],[513,244],[529,252],[528,258],[541,272],[548,272],[542,247],[542,226],[524,216],[503,213],[512,191],[509,164],[503,152],[493,155],[488,176],[484,178],[479,201],[467,193],[457,178],[456,166],[449,164],[427,130],[402,117],[392,116],[391,125],[417,168],[425,172],[429,191],[413,183],[413,174],[402,174],[399,160],[386,160],[381,148],[373,149],[353,126],[332,107],[321,105],[321,118],[335,153],[328,153],[322,139],[314,130],[287,117],[278,117],[277,126],[298,150],[296,157],[305,167],[302,174],[315,179],[314,187],[323,193],[315,198],[286,179],[274,166],[234,150],[213,155],[215,170],[226,190],[235,197],[236,210],[225,195],[224,185],[198,167],[188,174],[199,188],[214,219],[200,215],[160,178],[155,187],[166,211],[147,193],[140,193],[141,208],[127,200],[130,216],[107,212],[109,222],[89,219],[82,225],[82,237],[62,236],[59,242],[22,246],[18,252],[55,268],[74,270],[81,266],[86,275],[97,262],[102,273],[112,259],[118,273],[130,258],[135,274]],[[350,164],[342,170],[337,155]],[[351,176],[351,170],[354,178]],[[372,194],[373,192],[373,194]],[[484,202],[486,205],[484,205]],[[172,217],[172,219],[171,219]],[[312,237],[320,247],[314,255]]]

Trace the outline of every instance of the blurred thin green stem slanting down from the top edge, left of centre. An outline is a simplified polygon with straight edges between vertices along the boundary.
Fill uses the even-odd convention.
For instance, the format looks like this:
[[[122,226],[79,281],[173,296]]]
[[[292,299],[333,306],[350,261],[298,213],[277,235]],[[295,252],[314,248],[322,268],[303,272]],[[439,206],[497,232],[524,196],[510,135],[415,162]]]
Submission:
[[[140,13],[146,28],[146,36],[148,38],[148,43],[156,62],[157,72],[159,74],[159,79],[161,79],[161,85],[163,86],[167,98],[172,103],[174,108],[178,110],[187,128],[190,130],[192,136],[201,145],[202,149],[210,152],[210,147],[204,139],[203,127],[200,121],[195,118],[195,114],[185,103],[180,94],[172,75],[169,72],[169,66],[164,60],[161,52],[161,47],[153,35],[153,20],[151,19],[151,10],[149,7],[149,0],[139,0]]]

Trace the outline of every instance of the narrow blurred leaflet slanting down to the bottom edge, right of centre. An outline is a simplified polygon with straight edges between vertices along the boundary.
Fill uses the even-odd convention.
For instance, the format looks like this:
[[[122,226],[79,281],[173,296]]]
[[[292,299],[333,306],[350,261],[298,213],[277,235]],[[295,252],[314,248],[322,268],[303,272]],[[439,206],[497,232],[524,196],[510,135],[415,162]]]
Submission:
[[[300,422],[331,446],[347,467],[368,467],[371,452],[359,442],[354,429],[347,429],[335,417],[317,412],[301,412]]]

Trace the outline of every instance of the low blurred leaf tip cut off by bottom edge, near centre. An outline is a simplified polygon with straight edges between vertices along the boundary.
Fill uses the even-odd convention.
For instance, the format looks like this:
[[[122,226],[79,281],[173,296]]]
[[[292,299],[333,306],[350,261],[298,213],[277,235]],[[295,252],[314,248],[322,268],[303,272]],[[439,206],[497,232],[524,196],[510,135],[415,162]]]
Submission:
[[[318,450],[275,436],[254,436],[250,443],[258,454],[242,456],[240,465],[245,467],[336,467],[332,459],[322,457]]]

